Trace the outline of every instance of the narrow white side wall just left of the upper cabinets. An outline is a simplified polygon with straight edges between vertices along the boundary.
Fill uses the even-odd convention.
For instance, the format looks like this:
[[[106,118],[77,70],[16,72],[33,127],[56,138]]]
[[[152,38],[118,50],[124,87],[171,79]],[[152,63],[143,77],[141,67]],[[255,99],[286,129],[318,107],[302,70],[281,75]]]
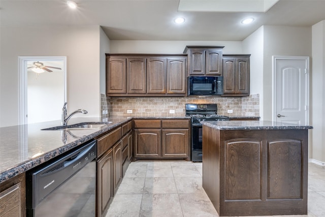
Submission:
[[[106,94],[106,56],[110,52],[110,39],[100,28],[100,92]]]

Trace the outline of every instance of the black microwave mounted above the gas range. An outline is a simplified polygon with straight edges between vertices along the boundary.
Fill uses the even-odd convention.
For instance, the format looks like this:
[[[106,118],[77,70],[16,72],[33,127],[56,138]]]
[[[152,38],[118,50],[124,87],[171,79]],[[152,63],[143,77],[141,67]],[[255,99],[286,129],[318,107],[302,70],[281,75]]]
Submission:
[[[200,95],[222,95],[223,77],[222,76],[189,76],[188,77],[188,96]]]

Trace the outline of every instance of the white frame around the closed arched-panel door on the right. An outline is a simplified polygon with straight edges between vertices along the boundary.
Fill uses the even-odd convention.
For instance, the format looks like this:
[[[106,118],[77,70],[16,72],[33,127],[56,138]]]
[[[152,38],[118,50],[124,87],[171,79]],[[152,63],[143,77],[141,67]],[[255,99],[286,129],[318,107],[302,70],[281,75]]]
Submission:
[[[305,115],[306,115],[306,125],[309,125],[309,105],[310,105],[310,83],[309,83],[309,56],[272,56],[272,120],[276,121],[276,67],[277,67],[277,60],[305,60],[306,63],[306,108],[305,108]]]

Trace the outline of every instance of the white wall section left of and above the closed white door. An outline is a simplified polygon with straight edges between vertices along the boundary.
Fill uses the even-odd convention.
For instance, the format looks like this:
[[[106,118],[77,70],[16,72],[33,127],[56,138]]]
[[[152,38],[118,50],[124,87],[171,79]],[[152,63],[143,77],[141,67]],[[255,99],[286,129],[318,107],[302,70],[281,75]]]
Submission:
[[[311,56],[311,27],[264,26],[263,114],[265,120],[272,120],[273,55]]]

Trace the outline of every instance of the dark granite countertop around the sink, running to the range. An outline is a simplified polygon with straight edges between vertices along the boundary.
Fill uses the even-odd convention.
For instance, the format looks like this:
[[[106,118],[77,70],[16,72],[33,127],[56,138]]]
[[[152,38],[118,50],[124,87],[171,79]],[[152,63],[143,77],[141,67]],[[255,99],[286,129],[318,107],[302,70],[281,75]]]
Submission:
[[[168,117],[109,117],[102,122],[101,118],[71,118],[68,125],[76,123],[103,123],[105,126],[83,130],[41,130],[61,126],[61,121],[48,121],[0,128],[0,183],[34,168],[96,136],[119,127],[133,118],[177,119],[185,116]]]

